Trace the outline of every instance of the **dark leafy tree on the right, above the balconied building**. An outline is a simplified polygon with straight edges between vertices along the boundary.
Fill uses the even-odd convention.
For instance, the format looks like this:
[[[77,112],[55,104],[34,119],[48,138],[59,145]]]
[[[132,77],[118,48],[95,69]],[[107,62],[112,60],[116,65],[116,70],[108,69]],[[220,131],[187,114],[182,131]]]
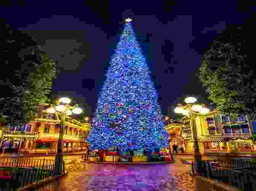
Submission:
[[[246,114],[256,119],[252,30],[246,25],[227,27],[205,52],[200,81],[222,114]]]

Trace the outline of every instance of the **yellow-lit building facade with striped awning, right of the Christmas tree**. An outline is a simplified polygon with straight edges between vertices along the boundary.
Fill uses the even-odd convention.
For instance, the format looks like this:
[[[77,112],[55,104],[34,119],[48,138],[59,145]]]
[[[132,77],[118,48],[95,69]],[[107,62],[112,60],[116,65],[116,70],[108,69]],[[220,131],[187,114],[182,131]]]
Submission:
[[[174,142],[179,145],[183,141],[185,152],[194,152],[191,123],[190,117],[185,116],[182,118],[182,123],[173,122],[166,125],[165,129],[170,135],[170,145]],[[207,116],[195,116],[195,128],[202,154],[256,153],[256,142],[251,140],[256,133],[256,122],[248,122],[245,115],[231,117],[221,115],[215,110]]]

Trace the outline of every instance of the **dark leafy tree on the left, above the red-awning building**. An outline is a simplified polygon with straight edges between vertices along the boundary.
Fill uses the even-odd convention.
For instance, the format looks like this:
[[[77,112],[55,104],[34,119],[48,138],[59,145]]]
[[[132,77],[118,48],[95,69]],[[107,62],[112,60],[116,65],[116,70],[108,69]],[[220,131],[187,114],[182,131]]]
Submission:
[[[47,58],[43,58],[44,52],[33,38],[13,30],[5,22],[0,21],[0,25],[2,26],[0,46],[2,46],[3,66],[0,71],[0,115],[6,116],[2,119],[11,126],[17,126],[24,123],[29,118],[29,114],[32,114],[29,112],[32,104],[29,98],[33,101],[45,99],[42,96],[32,95],[32,92],[36,92],[37,95],[48,92],[46,89],[49,82],[45,82],[42,87],[41,85],[45,79],[51,78],[51,74],[46,75],[45,79],[42,78],[42,75],[46,74],[46,71],[53,66],[46,69],[44,63]],[[42,71],[39,72],[38,67]],[[42,75],[40,76],[39,73]],[[35,77],[33,74],[36,74]],[[35,90],[36,86],[38,88]]]

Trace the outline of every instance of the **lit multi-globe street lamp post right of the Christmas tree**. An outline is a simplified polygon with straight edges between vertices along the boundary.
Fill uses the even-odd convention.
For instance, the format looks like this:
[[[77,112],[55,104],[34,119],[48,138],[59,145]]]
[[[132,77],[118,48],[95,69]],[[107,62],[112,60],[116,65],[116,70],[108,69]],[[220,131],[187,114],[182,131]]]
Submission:
[[[192,136],[194,139],[194,157],[195,157],[195,173],[200,174],[200,168],[202,167],[202,155],[199,151],[197,128],[195,125],[195,117],[198,115],[206,115],[210,112],[203,104],[195,104],[197,99],[188,97],[185,99],[186,105],[178,104],[174,109],[174,112],[178,114],[187,115],[190,118],[190,126],[192,128]]]

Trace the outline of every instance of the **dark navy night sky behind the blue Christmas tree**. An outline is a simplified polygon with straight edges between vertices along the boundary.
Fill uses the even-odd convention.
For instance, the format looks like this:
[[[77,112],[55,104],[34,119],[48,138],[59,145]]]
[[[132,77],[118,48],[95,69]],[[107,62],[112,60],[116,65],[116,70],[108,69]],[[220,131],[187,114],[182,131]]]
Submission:
[[[165,115],[175,118],[177,103],[195,96],[208,103],[198,81],[202,54],[229,24],[243,24],[253,7],[237,1],[26,1],[0,7],[0,16],[14,29],[33,36],[60,73],[52,96],[69,96],[86,115],[95,108],[110,57],[123,30],[124,19],[133,18]],[[76,3],[75,3],[76,2]],[[140,3],[141,2],[141,3]],[[155,1],[152,1],[155,2]],[[197,2],[197,3],[195,3]]]

